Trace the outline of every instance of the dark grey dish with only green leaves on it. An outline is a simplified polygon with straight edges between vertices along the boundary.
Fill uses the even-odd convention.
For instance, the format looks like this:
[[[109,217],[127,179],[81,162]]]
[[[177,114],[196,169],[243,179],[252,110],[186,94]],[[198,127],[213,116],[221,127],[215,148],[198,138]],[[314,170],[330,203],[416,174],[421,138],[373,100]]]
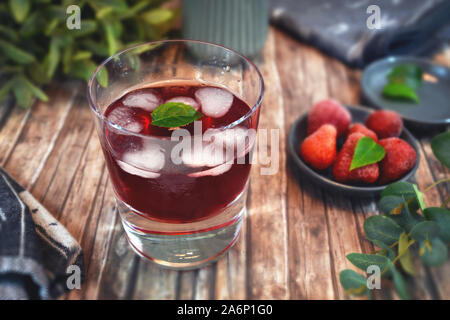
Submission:
[[[405,63],[419,66],[424,75],[422,86],[417,90],[420,103],[386,99],[382,95],[390,70]],[[364,101],[377,109],[398,112],[406,124],[413,127],[430,127],[450,124],[450,69],[414,57],[388,57],[370,64],[361,77]]]

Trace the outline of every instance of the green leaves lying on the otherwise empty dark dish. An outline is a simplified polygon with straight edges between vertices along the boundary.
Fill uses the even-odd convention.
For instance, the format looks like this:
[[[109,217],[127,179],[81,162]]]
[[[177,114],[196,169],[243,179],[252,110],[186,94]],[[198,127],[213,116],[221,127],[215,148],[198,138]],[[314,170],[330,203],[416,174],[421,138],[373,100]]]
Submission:
[[[388,83],[383,88],[383,95],[390,99],[420,103],[416,90],[422,85],[422,75],[422,69],[411,63],[392,68],[387,75]]]

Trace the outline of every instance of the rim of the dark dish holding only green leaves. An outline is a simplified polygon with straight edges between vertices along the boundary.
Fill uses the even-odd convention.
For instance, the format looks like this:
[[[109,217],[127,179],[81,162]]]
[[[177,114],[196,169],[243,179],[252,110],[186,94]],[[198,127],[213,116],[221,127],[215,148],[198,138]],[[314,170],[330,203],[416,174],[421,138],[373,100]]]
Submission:
[[[373,74],[375,72],[374,70],[378,69],[378,67],[380,65],[384,65],[384,64],[396,65],[396,64],[402,63],[402,62],[423,63],[423,64],[429,65],[433,68],[441,69],[445,73],[450,75],[450,68],[447,68],[444,65],[435,63],[434,61],[431,61],[431,60],[425,59],[425,58],[418,58],[418,57],[414,57],[414,56],[388,56],[388,57],[385,57],[382,59],[375,60],[372,63],[370,63],[367,67],[364,68],[362,75],[361,75],[361,80],[360,80],[361,92],[362,92],[364,98],[367,100],[367,102],[374,108],[380,109],[380,110],[390,110],[387,108],[383,108],[381,105],[379,105],[374,99],[372,99],[371,95],[369,94],[369,90],[367,88],[369,87],[368,79],[369,79],[370,75]],[[412,123],[417,123],[417,124],[425,124],[425,125],[450,124],[450,118],[442,119],[442,120],[439,120],[439,119],[438,120],[420,120],[417,118],[405,116],[403,114],[400,114],[400,115],[404,120],[412,122]]]

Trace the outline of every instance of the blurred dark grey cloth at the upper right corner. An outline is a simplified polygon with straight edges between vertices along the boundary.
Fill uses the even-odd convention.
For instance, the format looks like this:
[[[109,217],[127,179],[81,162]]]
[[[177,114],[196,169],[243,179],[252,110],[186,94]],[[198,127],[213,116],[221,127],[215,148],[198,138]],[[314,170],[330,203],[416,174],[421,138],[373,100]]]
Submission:
[[[450,0],[271,1],[272,23],[353,67],[424,54],[450,22]],[[380,29],[367,27],[370,5],[380,9]]]

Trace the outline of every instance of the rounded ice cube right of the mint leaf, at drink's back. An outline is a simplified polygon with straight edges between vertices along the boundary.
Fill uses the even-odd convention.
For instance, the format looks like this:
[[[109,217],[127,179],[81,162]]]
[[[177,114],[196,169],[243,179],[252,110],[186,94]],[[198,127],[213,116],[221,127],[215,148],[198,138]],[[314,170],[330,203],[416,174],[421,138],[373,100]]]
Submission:
[[[220,118],[224,116],[233,104],[233,95],[220,88],[201,88],[195,92],[200,101],[202,112],[208,117]]]

